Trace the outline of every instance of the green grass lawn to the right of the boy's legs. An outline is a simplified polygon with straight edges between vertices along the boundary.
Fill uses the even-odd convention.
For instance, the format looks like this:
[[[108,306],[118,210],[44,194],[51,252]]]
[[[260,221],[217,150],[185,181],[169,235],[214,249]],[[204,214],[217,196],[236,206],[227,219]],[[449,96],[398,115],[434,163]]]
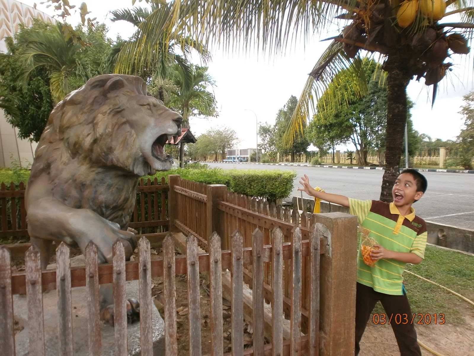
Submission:
[[[423,262],[408,265],[407,271],[441,284],[474,301],[474,256],[427,246]],[[443,313],[447,323],[462,325],[466,322],[463,310],[474,311],[474,306],[447,290],[409,273],[404,273],[403,277],[413,313],[431,314],[431,316]],[[374,313],[383,313],[380,303],[377,303]]]

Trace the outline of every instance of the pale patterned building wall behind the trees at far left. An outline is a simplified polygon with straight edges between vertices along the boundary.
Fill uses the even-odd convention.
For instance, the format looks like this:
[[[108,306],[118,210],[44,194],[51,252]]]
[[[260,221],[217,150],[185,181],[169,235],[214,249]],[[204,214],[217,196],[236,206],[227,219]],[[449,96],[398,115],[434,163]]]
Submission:
[[[0,0],[0,52],[7,52],[5,37],[13,36],[21,23],[26,26],[33,24],[34,18],[54,23],[54,19],[44,12],[33,9],[21,2],[14,0]],[[22,167],[33,163],[36,143],[20,140],[17,129],[5,119],[5,114],[0,110],[0,167],[10,167],[12,162],[19,162]]]

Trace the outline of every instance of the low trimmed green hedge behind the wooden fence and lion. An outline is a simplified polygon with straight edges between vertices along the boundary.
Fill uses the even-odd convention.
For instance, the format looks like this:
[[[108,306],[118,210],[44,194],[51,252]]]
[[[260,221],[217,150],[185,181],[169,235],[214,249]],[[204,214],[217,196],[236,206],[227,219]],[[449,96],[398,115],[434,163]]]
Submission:
[[[224,170],[220,168],[209,168],[207,165],[194,163],[180,169],[173,168],[165,172],[158,172],[154,176],[143,178],[154,179],[161,177],[168,181],[168,175],[178,174],[183,179],[192,180],[204,184],[224,184],[232,192],[251,197],[265,198],[270,201],[288,197],[293,189],[293,180],[296,172],[280,170]],[[29,170],[27,169],[0,169],[0,182],[27,182]]]

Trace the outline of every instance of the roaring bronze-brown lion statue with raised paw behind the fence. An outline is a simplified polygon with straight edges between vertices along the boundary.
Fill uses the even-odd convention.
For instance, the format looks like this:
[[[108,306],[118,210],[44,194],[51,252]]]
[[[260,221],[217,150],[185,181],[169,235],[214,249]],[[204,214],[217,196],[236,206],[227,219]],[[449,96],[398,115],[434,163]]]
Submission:
[[[181,135],[181,123],[177,112],[148,96],[143,79],[132,75],[97,76],[56,105],[25,194],[28,234],[43,269],[53,241],[82,253],[92,241],[99,262],[110,263],[112,245],[120,239],[130,258],[137,232],[128,224],[138,177],[171,168],[164,144]],[[112,286],[101,285],[100,292],[101,316],[113,324]]]

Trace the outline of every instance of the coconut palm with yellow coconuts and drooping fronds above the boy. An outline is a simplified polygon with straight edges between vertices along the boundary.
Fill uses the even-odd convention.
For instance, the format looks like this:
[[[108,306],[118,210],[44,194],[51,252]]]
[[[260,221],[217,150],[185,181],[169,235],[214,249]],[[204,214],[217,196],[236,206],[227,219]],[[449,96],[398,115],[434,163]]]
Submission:
[[[140,58],[138,62],[150,57],[147,48],[155,43],[157,28],[168,34],[170,28],[189,30],[195,38],[219,43],[228,50],[253,46],[279,54],[292,41],[306,40],[334,22],[346,25],[339,36],[331,38],[311,71],[287,130],[288,144],[303,132],[303,122],[314,112],[316,99],[340,69],[349,67],[361,50],[380,54],[388,92],[381,193],[385,201],[391,199],[390,187],[399,173],[408,83],[414,76],[423,77],[426,85],[433,85],[434,100],[438,82],[451,70],[451,63],[445,63],[448,54],[469,52],[474,34],[474,10],[469,0],[192,0],[171,4],[168,19],[159,22],[150,16],[142,24],[137,42],[144,49],[133,54]],[[446,15],[457,14],[460,22],[439,22],[445,16],[445,5],[450,10]],[[365,80],[355,80],[354,85],[361,95],[367,90]]]

